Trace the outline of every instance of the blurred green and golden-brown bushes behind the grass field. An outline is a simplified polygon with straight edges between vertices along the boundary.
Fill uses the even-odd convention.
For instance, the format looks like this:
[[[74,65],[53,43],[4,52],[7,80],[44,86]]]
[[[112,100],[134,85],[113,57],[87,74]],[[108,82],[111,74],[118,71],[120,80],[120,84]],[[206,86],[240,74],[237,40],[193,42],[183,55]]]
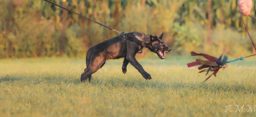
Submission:
[[[196,51],[240,56],[254,52],[238,0],[51,1],[119,31],[164,32],[174,54]],[[84,58],[90,47],[118,35],[43,0],[0,0],[0,6],[0,58]],[[243,18],[256,37],[256,22]]]

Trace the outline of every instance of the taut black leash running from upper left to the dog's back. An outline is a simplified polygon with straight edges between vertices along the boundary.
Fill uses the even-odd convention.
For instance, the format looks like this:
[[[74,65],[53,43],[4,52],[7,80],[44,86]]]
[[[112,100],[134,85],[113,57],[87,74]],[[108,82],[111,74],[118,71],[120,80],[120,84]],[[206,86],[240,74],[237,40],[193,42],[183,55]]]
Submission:
[[[78,14],[78,13],[72,11],[72,10],[69,10],[69,9],[67,9],[67,8],[64,8],[64,7],[58,5],[58,4],[54,3],[54,2],[51,2],[51,1],[49,1],[49,0],[44,0],[44,1],[49,2],[49,3],[53,4],[53,5],[56,5],[56,6],[60,7],[60,8],[62,8],[62,9],[68,10],[68,11],[70,11],[70,12],[72,12],[72,13],[75,13],[75,14],[77,14],[77,15],[79,15],[79,16],[85,18],[85,19],[88,19],[88,20],[90,20],[90,21],[93,21],[93,22],[95,22],[95,23],[97,23],[97,24],[99,24],[99,25],[101,25],[101,26],[104,26],[104,27],[110,29],[110,30],[113,30],[113,31],[119,33],[121,36],[123,36],[124,39],[126,40],[126,37],[124,36],[124,35],[125,35],[124,32],[117,31],[117,30],[115,30],[115,29],[113,29],[113,28],[111,28],[111,27],[108,27],[108,26],[106,26],[106,25],[104,25],[104,24],[102,24],[102,23],[99,23],[99,22],[97,22],[97,21],[91,20],[91,19],[89,19],[89,18],[87,18],[87,17],[85,17],[85,16],[82,16],[82,15],[80,15],[80,14]]]

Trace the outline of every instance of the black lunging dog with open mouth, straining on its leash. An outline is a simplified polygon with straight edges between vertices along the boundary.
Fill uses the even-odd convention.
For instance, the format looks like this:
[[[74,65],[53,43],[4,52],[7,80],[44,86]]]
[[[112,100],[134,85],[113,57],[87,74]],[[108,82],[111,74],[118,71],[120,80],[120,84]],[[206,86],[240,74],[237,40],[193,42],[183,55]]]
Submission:
[[[122,71],[126,73],[126,67],[130,62],[145,79],[151,79],[143,67],[135,59],[136,53],[143,47],[156,53],[160,59],[164,59],[164,51],[169,52],[171,48],[166,46],[162,40],[163,33],[157,36],[148,36],[139,32],[127,33],[124,36],[117,36],[112,39],[103,41],[87,51],[86,67],[84,73],[81,74],[81,82],[89,78],[91,81],[92,74],[98,71],[108,59],[118,59],[125,57]]]

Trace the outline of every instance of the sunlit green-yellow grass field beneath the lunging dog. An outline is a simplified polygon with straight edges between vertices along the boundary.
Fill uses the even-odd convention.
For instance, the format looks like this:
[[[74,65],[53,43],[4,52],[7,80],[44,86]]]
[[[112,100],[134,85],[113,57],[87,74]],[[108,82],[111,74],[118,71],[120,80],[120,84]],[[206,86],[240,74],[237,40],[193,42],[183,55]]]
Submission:
[[[138,60],[152,80],[130,64],[123,74],[119,59],[107,61],[91,83],[80,83],[84,59],[2,59],[0,116],[255,117],[255,59],[231,63],[203,83],[205,74],[186,67],[195,58],[166,58]]]

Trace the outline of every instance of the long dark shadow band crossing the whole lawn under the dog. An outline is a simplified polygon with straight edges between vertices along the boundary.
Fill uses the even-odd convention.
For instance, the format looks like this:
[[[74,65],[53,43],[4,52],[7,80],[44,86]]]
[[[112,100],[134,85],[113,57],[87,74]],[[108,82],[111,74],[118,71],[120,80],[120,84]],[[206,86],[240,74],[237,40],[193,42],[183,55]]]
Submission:
[[[252,82],[246,83],[237,83],[237,82],[212,82],[212,83],[188,83],[182,81],[175,81],[175,82],[161,82],[161,81],[154,81],[154,80],[144,80],[141,78],[138,79],[124,79],[119,77],[113,77],[108,79],[101,79],[101,78],[93,78],[91,83],[88,81],[81,83],[80,78],[73,78],[61,75],[35,75],[29,77],[21,77],[17,75],[6,75],[0,77],[1,82],[13,82],[19,81],[25,82],[25,84],[33,84],[37,85],[39,83],[47,83],[55,84],[55,85],[68,85],[74,84],[75,86],[78,85],[85,85],[86,86],[93,86],[93,87],[107,87],[110,90],[114,88],[133,88],[136,90],[147,90],[148,88],[152,88],[154,90],[159,91],[170,91],[170,90],[186,90],[186,91],[208,91],[208,92],[233,92],[239,94],[247,94],[247,93],[256,93],[255,84]]]

